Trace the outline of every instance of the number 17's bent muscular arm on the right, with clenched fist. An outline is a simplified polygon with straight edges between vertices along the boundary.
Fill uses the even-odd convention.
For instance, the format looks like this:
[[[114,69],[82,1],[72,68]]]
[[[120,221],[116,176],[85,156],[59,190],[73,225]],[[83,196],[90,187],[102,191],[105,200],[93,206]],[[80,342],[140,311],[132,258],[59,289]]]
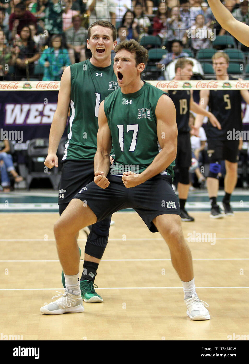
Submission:
[[[127,188],[140,185],[161,173],[175,160],[177,150],[176,109],[173,101],[167,95],[162,95],[156,105],[156,130],[162,150],[142,173],[124,173],[122,180]]]

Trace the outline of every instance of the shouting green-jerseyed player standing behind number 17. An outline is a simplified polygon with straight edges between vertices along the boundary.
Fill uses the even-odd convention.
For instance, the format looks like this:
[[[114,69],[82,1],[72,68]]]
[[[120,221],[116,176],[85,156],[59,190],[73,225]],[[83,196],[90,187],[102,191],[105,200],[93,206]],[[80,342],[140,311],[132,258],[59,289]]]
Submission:
[[[93,159],[97,150],[99,104],[118,88],[111,61],[111,50],[117,44],[115,27],[108,21],[97,21],[89,27],[88,38],[87,48],[92,52],[91,59],[67,67],[62,75],[45,161],[49,168],[58,167],[56,151],[70,110],[58,196],[60,215],[82,184],[94,179]],[[93,282],[106,248],[110,220],[111,217],[106,217],[92,226],[87,237],[80,280],[82,298],[86,302],[103,301],[95,292]],[[62,283],[65,287],[63,272]]]

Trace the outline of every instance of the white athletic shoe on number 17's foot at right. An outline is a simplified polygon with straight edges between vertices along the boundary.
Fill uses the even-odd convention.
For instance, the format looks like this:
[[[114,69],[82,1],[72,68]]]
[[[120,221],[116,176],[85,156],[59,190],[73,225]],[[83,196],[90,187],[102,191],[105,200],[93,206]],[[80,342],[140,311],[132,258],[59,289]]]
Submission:
[[[198,296],[185,298],[184,302],[187,306],[187,315],[191,320],[210,320],[209,312],[205,308],[205,306],[208,307],[208,304],[201,301]]]

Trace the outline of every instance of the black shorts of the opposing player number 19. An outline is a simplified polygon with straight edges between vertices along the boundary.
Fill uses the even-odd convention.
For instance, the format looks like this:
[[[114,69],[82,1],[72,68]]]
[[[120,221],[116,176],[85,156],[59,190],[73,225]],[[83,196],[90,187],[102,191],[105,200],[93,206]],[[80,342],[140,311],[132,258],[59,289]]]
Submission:
[[[191,142],[190,142],[190,134],[189,132],[186,133],[179,133],[177,137],[177,153],[175,168],[181,167],[191,167],[191,160],[192,160],[192,150],[191,150]]]

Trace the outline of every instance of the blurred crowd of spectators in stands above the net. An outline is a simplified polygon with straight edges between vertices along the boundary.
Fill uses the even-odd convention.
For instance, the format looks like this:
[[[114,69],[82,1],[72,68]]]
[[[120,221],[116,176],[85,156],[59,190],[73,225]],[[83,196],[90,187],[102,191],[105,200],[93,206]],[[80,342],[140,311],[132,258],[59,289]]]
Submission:
[[[247,0],[224,4],[249,24]],[[165,50],[158,67],[227,34],[204,0],[0,0],[0,80],[60,80],[65,67],[91,56],[87,28],[96,20],[113,23],[118,41],[154,37],[146,47]]]

